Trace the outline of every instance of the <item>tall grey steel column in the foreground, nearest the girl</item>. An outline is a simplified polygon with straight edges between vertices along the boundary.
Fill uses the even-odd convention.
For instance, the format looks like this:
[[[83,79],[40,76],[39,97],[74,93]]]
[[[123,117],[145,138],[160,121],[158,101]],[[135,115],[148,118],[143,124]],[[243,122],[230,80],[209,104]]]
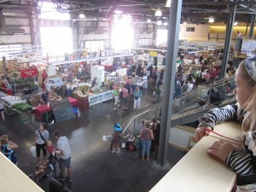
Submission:
[[[164,79],[164,105],[161,116],[158,163],[166,166],[172,117],[172,99],[177,64],[177,46],[182,11],[182,0],[172,1],[169,15],[166,74]],[[171,78],[172,77],[172,78]]]

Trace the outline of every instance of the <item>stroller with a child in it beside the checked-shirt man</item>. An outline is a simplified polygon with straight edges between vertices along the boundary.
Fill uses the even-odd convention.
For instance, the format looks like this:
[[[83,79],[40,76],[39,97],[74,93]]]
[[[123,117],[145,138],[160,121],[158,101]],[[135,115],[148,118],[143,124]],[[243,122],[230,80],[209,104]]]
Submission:
[[[55,178],[55,163],[57,161],[57,157],[55,155],[49,156],[49,159],[46,163],[38,166],[38,171],[35,172],[36,182],[38,183],[41,178]]]

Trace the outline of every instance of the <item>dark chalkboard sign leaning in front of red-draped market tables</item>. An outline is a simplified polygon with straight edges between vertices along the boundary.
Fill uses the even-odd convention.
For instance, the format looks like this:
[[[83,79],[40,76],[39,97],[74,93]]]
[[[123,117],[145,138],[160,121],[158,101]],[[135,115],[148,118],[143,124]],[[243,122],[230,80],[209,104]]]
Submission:
[[[73,108],[68,99],[62,99],[61,101],[50,102],[50,106],[55,115],[55,121],[61,122],[67,119],[73,119],[75,117]]]

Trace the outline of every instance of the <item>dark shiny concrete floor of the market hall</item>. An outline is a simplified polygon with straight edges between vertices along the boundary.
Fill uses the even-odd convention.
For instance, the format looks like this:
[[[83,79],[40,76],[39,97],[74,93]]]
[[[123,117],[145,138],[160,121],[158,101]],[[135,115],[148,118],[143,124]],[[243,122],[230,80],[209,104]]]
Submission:
[[[142,108],[154,101],[152,90],[144,90]],[[98,105],[81,114],[79,118],[48,126],[49,139],[55,143],[53,132],[58,130],[67,136],[72,150],[72,182],[62,182],[73,192],[146,192],[157,183],[178,160],[184,152],[169,148],[168,166],[162,167],[156,163],[156,155],[151,160],[142,161],[138,152],[121,150],[120,157],[112,157],[108,142],[102,141],[103,135],[110,135],[112,126],[119,119],[132,113],[121,108],[113,110],[113,101]],[[17,115],[7,115],[6,121],[0,123],[0,135],[7,134],[9,139],[17,143],[18,167],[26,175],[34,174],[36,159],[30,154],[34,143],[34,131],[40,122],[20,126]],[[57,165],[58,166],[58,165]],[[59,170],[56,170],[59,175]],[[19,182],[19,181],[17,181]],[[48,190],[48,178],[42,178],[38,185]]]

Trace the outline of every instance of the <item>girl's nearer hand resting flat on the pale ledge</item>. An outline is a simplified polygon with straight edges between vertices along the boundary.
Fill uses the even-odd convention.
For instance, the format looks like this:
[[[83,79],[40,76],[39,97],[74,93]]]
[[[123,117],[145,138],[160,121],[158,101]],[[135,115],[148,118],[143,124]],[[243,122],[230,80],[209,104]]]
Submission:
[[[224,140],[219,140],[218,142],[212,143],[207,152],[212,157],[224,162],[234,149],[236,148],[231,143],[228,143]]]

